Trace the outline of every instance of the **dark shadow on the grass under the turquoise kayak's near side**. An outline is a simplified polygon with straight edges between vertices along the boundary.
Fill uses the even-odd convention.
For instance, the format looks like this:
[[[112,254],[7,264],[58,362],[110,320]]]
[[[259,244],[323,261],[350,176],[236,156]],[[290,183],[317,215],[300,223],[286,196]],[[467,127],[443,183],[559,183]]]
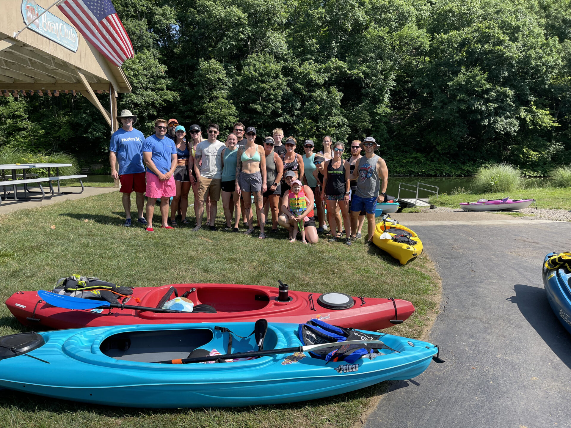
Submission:
[[[38,413],[38,412],[50,412],[53,414],[65,415],[67,413],[75,413],[79,411],[88,411],[90,413],[95,413],[99,416],[109,417],[109,418],[128,418],[128,417],[140,417],[141,415],[179,415],[186,414],[189,411],[200,411],[203,412],[208,409],[226,411],[232,414],[255,414],[258,411],[275,411],[275,410],[301,410],[305,407],[322,407],[329,405],[337,405],[341,403],[346,403],[353,401],[355,399],[369,399],[375,397],[376,395],[383,395],[389,391],[400,389],[400,387],[408,386],[407,382],[413,382],[415,385],[419,385],[417,382],[409,381],[397,381],[397,382],[380,382],[376,385],[368,386],[363,389],[352,391],[350,393],[333,395],[333,397],[325,397],[314,399],[310,401],[300,401],[296,403],[284,403],[276,405],[255,405],[247,407],[199,407],[196,409],[180,408],[180,409],[148,409],[148,408],[137,408],[137,407],[113,407],[96,405],[89,403],[81,403],[74,401],[67,401],[65,399],[54,400],[50,397],[42,397],[41,395],[26,394],[20,391],[12,391],[7,389],[0,389],[0,407],[16,407],[17,409],[27,412],[27,413]],[[391,384],[397,384],[402,386],[391,387]]]

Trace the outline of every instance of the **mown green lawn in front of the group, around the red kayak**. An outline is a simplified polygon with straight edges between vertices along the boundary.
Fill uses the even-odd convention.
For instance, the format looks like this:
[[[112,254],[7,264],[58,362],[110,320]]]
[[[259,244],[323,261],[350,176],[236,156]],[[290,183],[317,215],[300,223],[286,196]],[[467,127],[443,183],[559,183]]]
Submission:
[[[158,211],[157,207],[155,223]],[[388,333],[420,337],[435,314],[439,277],[424,255],[401,266],[362,241],[352,247],[325,239],[316,245],[290,244],[285,231],[259,240],[257,233],[248,237],[222,231],[192,232],[190,227],[174,231],[157,228],[148,233],[143,227],[122,227],[123,219],[118,193],[0,216],[0,297],[6,300],[19,290],[50,290],[58,278],[74,273],[122,286],[175,282],[277,286],[277,281],[283,280],[294,290],[336,290],[353,296],[412,301],[416,312],[403,324],[385,330]],[[2,305],[0,334],[22,331],[25,328]],[[167,411],[85,405],[1,390],[0,426],[348,427],[386,387],[384,382],[288,405]]]

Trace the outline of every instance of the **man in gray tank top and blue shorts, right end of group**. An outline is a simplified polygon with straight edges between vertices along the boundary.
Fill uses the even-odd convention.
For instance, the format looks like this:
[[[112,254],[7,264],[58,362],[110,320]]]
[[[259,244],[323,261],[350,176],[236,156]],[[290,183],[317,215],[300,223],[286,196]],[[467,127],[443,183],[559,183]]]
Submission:
[[[384,201],[388,183],[387,164],[383,158],[375,155],[377,147],[379,144],[374,138],[367,137],[363,140],[361,148],[365,151],[365,156],[357,159],[355,171],[351,175],[351,180],[357,180],[357,189],[351,196],[351,230],[357,231],[359,213],[365,211],[367,213],[368,241],[373,239],[373,232],[375,232],[377,202]],[[379,191],[381,192],[379,193]]]

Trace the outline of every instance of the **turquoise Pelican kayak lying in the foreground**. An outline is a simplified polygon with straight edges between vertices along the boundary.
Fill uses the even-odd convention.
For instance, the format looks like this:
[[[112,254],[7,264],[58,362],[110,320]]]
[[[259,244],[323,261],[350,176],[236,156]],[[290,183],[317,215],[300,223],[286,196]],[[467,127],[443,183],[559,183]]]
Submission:
[[[269,324],[264,351],[302,346],[298,327]],[[435,345],[428,342],[367,332],[380,335],[392,350],[381,349],[352,364],[327,362],[307,352],[291,351],[214,364],[158,364],[182,361],[194,350],[210,355],[226,354],[229,349],[230,353],[256,352],[259,342],[247,336],[253,334],[253,328],[253,322],[204,322],[3,336],[0,345],[15,344],[18,355],[10,356],[9,350],[2,348],[0,387],[128,407],[289,403],[346,393],[386,380],[413,378],[424,372],[437,353]],[[229,344],[231,336],[234,340]]]

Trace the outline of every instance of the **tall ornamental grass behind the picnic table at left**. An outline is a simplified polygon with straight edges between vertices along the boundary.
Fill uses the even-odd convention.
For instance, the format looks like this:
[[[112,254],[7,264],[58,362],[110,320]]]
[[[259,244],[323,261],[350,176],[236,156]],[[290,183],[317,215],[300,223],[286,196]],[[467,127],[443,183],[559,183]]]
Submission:
[[[16,163],[70,163],[71,167],[59,168],[59,175],[76,175],[79,171],[77,159],[75,159],[75,156],[67,153],[37,153],[19,148],[0,148],[0,164]],[[39,177],[47,177],[46,168],[31,168],[27,169],[26,172],[36,173]],[[52,175],[55,175],[55,169],[52,172]]]

